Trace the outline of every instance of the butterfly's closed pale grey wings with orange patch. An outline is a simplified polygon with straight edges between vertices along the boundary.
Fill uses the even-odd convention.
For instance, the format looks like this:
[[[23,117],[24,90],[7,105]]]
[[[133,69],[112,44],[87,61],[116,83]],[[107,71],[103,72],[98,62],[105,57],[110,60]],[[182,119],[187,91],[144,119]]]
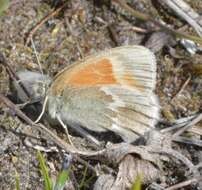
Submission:
[[[150,50],[114,48],[59,73],[48,92],[49,113],[93,131],[114,131],[131,141],[158,120],[155,82],[156,61]]]

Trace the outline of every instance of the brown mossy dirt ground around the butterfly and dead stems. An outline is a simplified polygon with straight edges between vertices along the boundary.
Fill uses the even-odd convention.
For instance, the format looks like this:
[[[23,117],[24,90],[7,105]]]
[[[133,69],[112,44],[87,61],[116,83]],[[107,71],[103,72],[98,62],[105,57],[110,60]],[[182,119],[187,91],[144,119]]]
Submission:
[[[110,1],[12,0],[9,8],[0,16],[0,52],[6,57],[15,72],[24,69],[40,71],[33,44],[31,41],[27,44],[25,42],[37,23],[51,11],[58,9],[64,2],[66,2],[66,6],[58,14],[51,16],[40,25],[31,38],[45,74],[53,77],[68,64],[100,50],[122,45],[144,45],[150,47],[157,58],[156,94],[159,96],[163,121],[163,124],[159,126],[162,127],[165,123],[172,123],[182,117],[200,113],[202,106],[202,54],[191,55],[180,44],[179,39],[159,30],[159,27],[151,22],[144,22],[129,16],[110,4]],[[160,6],[158,1],[130,0],[127,2],[135,10],[151,15],[152,18],[163,21],[173,29],[181,29],[180,31],[197,35],[192,27],[172,11]],[[186,2],[198,14],[202,14],[201,0],[187,0]],[[151,42],[152,38],[154,38],[154,42]],[[0,93],[19,105],[20,102],[16,98],[12,86],[12,79],[2,64],[0,65]],[[32,119],[38,115],[36,112],[33,114],[34,112],[30,111],[33,106],[35,104],[22,109]],[[195,129],[199,129],[199,132],[186,134],[186,137],[189,137],[190,140],[200,141],[201,126],[201,123],[195,125]],[[61,128],[47,127],[63,140],[67,140]],[[16,171],[20,176],[21,189],[40,190],[44,188],[36,156],[37,151],[26,143],[28,136],[25,134],[32,134],[33,131],[35,136],[39,138],[32,139],[36,144],[45,147],[54,145],[52,142],[40,140],[38,131],[33,130],[26,122],[19,119],[13,110],[8,109],[0,102],[0,189],[15,189]],[[120,142],[120,139],[111,133],[95,134],[103,145],[102,147],[94,147],[74,131],[70,130],[70,134],[73,136],[74,145],[84,150],[100,150],[109,139]],[[194,165],[201,163],[202,149],[200,146],[177,142],[172,146]],[[54,151],[43,154],[47,159],[51,177],[56,179],[63,161],[61,154]],[[116,176],[117,166],[105,165],[91,159],[85,160],[93,167],[101,168],[102,173],[109,173],[110,170]],[[85,170],[84,164],[73,161],[72,179],[74,178],[76,184],[81,185],[82,179],[85,178],[85,183],[77,189],[93,189],[98,179],[91,170],[88,169],[86,173]],[[164,188],[193,177],[189,176],[180,162],[166,163],[163,171],[164,181],[157,179],[153,182]],[[151,181],[145,184],[143,189],[151,184]],[[74,187],[66,186],[66,189],[71,188],[76,189],[75,183]],[[192,183],[179,189],[201,188],[200,183]]]

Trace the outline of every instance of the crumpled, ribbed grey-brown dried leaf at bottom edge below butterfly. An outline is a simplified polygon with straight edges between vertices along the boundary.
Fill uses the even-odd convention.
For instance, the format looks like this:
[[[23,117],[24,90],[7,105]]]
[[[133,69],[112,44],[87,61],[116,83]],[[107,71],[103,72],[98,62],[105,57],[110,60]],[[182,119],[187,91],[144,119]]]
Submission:
[[[119,165],[116,179],[102,175],[95,183],[94,190],[129,190],[138,176],[143,176],[142,183],[146,184],[156,180],[160,176],[160,170],[151,162],[127,155]]]

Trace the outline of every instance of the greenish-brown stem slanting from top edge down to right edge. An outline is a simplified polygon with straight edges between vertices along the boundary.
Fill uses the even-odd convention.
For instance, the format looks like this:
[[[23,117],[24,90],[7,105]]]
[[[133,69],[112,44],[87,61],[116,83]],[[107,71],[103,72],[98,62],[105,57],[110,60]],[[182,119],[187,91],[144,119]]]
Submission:
[[[172,28],[169,28],[166,25],[164,25],[164,24],[158,22],[157,20],[153,19],[150,15],[146,15],[146,14],[143,14],[143,13],[141,13],[139,11],[134,10],[132,7],[127,5],[124,0],[112,0],[112,1],[118,3],[123,9],[128,11],[134,17],[137,17],[138,19],[143,20],[143,21],[150,21],[153,24],[155,24],[156,26],[163,29],[165,32],[170,33],[171,35],[173,35],[175,37],[178,37],[178,38],[181,38],[181,39],[186,38],[186,39],[192,40],[192,41],[194,41],[196,43],[202,44],[202,38],[197,37],[197,36],[191,36],[191,35],[188,35],[188,34],[173,30]]]

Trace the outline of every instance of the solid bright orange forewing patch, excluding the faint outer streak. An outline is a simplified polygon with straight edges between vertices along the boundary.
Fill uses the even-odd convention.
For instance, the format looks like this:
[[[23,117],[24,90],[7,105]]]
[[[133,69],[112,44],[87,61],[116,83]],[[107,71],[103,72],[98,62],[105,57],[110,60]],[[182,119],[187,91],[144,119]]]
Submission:
[[[52,84],[52,90],[54,94],[58,94],[66,86],[87,87],[104,84],[119,84],[114,77],[112,64],[106,58],[63,71]]]

